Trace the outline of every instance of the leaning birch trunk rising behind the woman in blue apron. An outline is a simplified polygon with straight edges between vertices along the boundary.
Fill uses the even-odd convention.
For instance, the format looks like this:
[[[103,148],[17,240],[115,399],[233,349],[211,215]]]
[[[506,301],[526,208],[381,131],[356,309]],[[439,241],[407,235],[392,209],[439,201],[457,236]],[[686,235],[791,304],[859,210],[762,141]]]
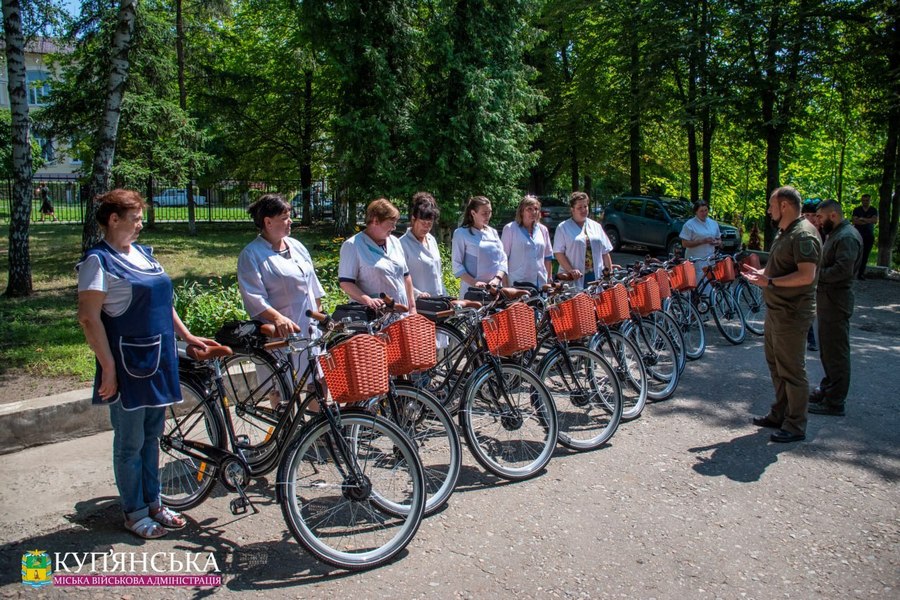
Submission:
[[[121,0],[116,31],[112,39],[112,59],[109,80],[106,85],[106,102],[103,117],[97,131],[97,151],[91,166],[91,179],[87,213],[84,218],[84,233],[81,238],[82,250],[87,250],[100,241],[100,227],[97,224],[97,196],[109,190],[109,177],[116,155],[116,138],[119,131],[119,117],[122,112],[122,98],[125,96],[125,81],[128,78],[128,51],[134,36],[134,20],[137,0]]]

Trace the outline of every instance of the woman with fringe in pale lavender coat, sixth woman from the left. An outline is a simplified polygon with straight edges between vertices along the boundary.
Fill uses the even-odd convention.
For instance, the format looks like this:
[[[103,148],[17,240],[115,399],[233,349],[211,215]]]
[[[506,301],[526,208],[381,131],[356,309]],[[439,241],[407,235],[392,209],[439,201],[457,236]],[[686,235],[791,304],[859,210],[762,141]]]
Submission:
[[[512,285],[520,283],[543,287],[551,277],[553,246],[550,232],[540,223],[541,203],[534,196],[525,196],[516,209],[516,220],[507,223],[500,236],[509,266],[508,279]]]

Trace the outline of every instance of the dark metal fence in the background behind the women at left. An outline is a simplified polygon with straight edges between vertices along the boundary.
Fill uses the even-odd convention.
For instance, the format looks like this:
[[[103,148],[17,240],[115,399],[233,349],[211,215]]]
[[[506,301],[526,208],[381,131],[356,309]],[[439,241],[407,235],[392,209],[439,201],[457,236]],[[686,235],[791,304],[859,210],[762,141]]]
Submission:
[[[31,222],[59,221],[83,223],[88,198],[87,187],[75,176],[41,176],[33,179]],[[153,181],[125,187],[144,196],[148,207],[146,219],[158,223],[186,223],[188,221],[187,186]],[[0,180],[0,224],[8,224],[12,214],[11,179]],[[299,180],[245,181],[224,180],[215,185],[198,186],[194,191],[194,219],[199,222],[244,222],[249,219],[247,207],[261,195],[275,192],[291,203],[294,215],[302,213]],[[52,213],[41,211],[49,202]],[[312,190],[312,216],[315,221],[332,218],[332,197],[324,182],[315,182]],[[45,214],[47,213],[47,214]]]

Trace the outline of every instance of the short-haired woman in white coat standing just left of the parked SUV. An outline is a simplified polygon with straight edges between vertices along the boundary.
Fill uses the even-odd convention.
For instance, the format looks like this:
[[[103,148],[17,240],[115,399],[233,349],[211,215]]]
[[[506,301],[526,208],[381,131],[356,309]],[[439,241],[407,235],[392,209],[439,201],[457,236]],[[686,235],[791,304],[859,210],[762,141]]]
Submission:
[[[559,262],[559,270],[578,277],[576,289],[599,278],[603,269],[612,268],[612,244],[603,226],[588,218],[590,204],[590,196],[572,192],[569,198],[572,218],[559,224],[553,238],[553,253]]]

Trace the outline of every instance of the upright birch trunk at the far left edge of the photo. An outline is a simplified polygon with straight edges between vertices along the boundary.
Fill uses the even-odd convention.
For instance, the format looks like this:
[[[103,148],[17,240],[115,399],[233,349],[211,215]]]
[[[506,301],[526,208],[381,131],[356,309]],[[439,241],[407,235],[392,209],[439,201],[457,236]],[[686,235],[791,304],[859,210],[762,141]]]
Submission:
[[[3,0],[6,71],[12,113],[13,192],[9,222],[9,282],[7,297],[29,296],[33,291],[28,227],[31,220],[31,142],[28,91],[25,83],[25,36],[19,0]]]

